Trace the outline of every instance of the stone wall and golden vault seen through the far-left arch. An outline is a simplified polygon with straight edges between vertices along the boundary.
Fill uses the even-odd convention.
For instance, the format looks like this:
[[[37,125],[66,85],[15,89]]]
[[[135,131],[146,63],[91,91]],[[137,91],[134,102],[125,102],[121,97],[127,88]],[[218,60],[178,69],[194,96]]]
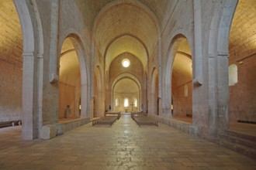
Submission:
[[[22,32],[11,0],[0,5],[0,122],[22,119]]]

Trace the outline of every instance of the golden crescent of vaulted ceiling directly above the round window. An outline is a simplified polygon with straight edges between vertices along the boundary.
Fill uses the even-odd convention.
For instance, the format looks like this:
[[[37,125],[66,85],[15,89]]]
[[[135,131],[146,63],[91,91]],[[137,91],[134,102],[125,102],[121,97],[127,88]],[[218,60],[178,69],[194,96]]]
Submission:
[[[133,36],[121,36],[115,39],[106,49],[106,67],[109,68],[112,60],[122,53],[131,53],[140,59],[143,67],[147,66],[147,49],[144,44]]]

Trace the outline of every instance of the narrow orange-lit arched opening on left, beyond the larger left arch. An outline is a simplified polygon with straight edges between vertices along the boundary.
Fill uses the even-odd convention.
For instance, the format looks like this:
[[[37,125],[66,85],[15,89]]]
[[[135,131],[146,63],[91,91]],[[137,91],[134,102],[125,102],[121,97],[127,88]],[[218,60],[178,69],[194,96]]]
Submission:
[[[102,117],[104,115],[103,107],[103,88],[102,88],[102,73],[100,66],[95,68],[94,76],[94,114],[93,117]]]

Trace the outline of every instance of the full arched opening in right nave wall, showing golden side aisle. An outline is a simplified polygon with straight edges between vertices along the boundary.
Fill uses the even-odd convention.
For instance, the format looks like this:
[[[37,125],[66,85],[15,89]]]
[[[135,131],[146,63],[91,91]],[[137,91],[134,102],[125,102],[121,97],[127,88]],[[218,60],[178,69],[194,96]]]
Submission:
[[[179,38],[171,68],[171,110],[173,117],[192,117],[192,54],[189,42]]]

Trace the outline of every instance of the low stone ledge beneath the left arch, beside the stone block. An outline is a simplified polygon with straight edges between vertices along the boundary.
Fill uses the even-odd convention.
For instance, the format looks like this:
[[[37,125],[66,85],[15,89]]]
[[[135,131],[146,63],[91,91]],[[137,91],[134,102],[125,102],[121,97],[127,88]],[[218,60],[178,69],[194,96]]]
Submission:
[[[57,127],[57,135],[64,134],[67,131],[71,131],[74,128],[81,127],[82,125],[88,124],[90,122],[90,118],[80,118],[74,121],[67,121],[63,123],[56,124]]]

